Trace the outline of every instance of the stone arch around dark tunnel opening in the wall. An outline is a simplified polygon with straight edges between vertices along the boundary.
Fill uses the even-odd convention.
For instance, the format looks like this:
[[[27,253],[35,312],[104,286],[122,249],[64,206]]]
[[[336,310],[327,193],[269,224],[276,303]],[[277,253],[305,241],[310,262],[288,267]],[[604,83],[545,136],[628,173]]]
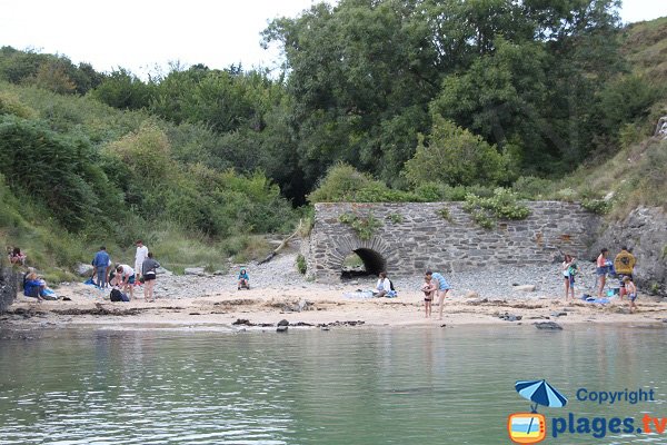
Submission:
[[[342,270],[342,263],[350,253],[355,253],[361,258],[364,267],[370,275],[378,275],[380,271],[387,270],[387,265],[391,264],[394,259],[389,244],[378,236],[369,240],[342,236],[337,240],[331,268]]]

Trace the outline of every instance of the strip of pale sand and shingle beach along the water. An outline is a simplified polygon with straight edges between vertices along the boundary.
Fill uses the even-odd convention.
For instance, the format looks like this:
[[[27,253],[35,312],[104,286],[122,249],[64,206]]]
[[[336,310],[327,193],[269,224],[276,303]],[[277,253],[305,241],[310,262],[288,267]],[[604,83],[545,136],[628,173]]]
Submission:
[[[289,270],[278,288],[270,283],[279,270],[291,265],[290,254],[255,274],[260,285],[237,290],[235,271],[221,276],[160,276],[156,303],[143,300],[142,287],[135,287],[130,303],[111,303],[108,291],[80,283],[66,284],[58,295],[69,300],[37,303],[17,298],[8,313],[0,316],[3,326],[17,328],[49,327],[220,327],[230,329],[272,328],[287,320],[292,327],[336,326],[434,326],[470,324],[532,325],[556,322],[633,323],[667,326],[667,301],[639,295],[638,310],[629,314],[627,300],[618,297],[609,304],[565,300],[563,295],[514,291],[506,297],[485,296],[454,289],[445,300],[444,317],[438,307],[426,318],[424,297],[407,289],[398,298],[362,298],[359,289],[372,286],[374,278],[337,285],[309,283]],[[291,266],[290,266],[291,267]],[[250,267],[252,269],[252,267]],[[285,285],[289,283],[289,285]],[[415,288],[417,289],[417,288]]]

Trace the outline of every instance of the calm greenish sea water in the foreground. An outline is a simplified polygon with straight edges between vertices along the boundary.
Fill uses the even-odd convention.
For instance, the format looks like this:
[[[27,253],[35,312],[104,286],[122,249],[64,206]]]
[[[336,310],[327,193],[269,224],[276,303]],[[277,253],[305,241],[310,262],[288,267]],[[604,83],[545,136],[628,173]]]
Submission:
[[[555,417],[667,417],[663,326],[321,332],[0,332],[0,444],[508,444],[514,384],[569,398],[546,444],[667,444],[564,433]],[[654,389],[599,405],[579,389]]]

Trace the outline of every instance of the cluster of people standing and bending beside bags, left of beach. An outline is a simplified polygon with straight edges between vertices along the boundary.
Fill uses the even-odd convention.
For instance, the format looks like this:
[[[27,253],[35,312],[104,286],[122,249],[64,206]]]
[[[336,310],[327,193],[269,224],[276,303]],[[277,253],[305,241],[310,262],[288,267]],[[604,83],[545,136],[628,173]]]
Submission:
[[[111,287],[111,297],[115,299],[115,295],[120,293],[120,300],[130,300],[135,298],[135,286],[143,284],[143,299],[146,301],[155,301],[155,281],[157,277],[157,269],[160,264],[153,258],[152,251],[148,250],[148,247],[143,245],[141,239],[138,239],[137,251],[135,254],[135,267],[122,263],[113,265],[111,257],[107,253],[104,246],[100,247],[100,250],[94,254],[92,259],[93,277],[97,277],[97,281],[93,281],[99,288]],[[129,297],[127,294],[129,293]],[[126,299],[127,297],[127,299]]]

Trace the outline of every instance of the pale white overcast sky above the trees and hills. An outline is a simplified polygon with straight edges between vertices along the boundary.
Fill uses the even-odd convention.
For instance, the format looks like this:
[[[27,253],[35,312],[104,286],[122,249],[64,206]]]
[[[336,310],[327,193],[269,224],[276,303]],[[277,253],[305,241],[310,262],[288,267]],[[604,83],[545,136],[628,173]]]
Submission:
[[[329,0],[334,2],[335,0]],[[278,69],[260,32],[313,0],[0,0],[0,47],[60,53],[98,71],[122,67],[146,77],[181,66]],[[666,0],[625,0],[624,22],[667,16]]]

